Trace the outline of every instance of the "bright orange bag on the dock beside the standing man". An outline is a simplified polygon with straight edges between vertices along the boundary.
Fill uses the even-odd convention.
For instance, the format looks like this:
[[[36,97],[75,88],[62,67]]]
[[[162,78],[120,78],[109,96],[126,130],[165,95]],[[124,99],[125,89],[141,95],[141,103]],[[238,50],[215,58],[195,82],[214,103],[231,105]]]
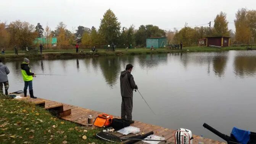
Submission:
[[[95,118],[93,125],[98,127],[109,126],[112,123],[113,116],[108,114],[100,114]]]

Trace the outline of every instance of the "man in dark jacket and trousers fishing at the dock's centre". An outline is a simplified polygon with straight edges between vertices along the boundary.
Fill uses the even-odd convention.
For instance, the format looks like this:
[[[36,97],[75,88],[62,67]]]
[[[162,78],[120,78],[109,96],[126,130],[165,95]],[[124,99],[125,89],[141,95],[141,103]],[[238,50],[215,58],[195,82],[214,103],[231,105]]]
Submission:
[[[132,120],[132,97],[134,89],[138,90],[138,86],[134,82],[132,74],[132,64],[127,64],[126,70],[121,72],[120,87],[121,87],[121,118],[129,123],[134,123]]]

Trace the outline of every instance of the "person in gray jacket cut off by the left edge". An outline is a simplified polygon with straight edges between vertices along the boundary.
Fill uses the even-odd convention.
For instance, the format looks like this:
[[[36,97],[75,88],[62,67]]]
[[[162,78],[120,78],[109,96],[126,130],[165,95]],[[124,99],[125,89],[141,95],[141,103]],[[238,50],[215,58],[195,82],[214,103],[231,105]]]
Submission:
[[[10,73],[9,69],[2,63],[2,59],[0,59],[0,93],[3,93],[3,85],[5,85],[5,95],[8,94],[8,77],[7,75]]]

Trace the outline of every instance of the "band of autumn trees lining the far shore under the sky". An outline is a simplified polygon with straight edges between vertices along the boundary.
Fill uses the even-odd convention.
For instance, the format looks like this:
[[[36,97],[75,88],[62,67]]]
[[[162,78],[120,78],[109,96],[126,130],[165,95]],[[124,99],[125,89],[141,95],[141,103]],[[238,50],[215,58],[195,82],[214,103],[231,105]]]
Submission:
[[[78,26],[76,33],[74,30],[68,30],[66,24],[60,22],[55,30],[49,26],[44,29],[37,23],[37,26],[29,22],[13,21],[9,24],[0,23],[0,48],[24,50],[26,47],[35,48],[39,43],[34,43],[35,38],[42,37],[46,39],[44,48],[67,49],[74,48],[75,38],[82,38],[81,46],[91,48],[92,46],[110,45],[114,43],[119,48],[132,45],[133,47],[145,47],[148,37],[168,37],[168,43],[184,46],[198,45],[198,39],[204,37],[231,37],[234,44],[256,43],[256,10],[239,9],[235,14],[235,32],[228,29],[229,22],[227,15],[220,12],[216,15],[209,26],[189,26],[187,22],[181,29],[163,30],[158,26],[151,24],[141,25],[135,29],[134,25],[130,27],[121,27],[121,22],[112,10],[107,10],[101,19],[100,26],[92,28]],[[52,47],[51,40],[57,38],[57,46]]]

